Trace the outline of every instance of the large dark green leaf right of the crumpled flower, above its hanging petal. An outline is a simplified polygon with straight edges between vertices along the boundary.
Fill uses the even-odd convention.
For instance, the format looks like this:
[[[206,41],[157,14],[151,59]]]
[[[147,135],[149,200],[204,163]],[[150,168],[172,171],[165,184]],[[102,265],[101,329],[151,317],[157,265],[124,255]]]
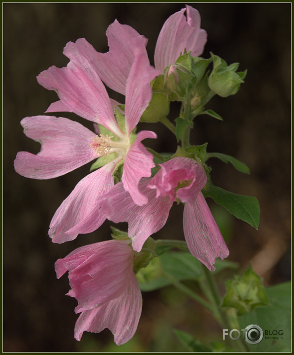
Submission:
[[[258,228],[260,207],[253,196],[237,195],[220,187],[209,185],[208,190],[202,190],[204,197],[211,197],[217,204],[223,206],[235,217]]]

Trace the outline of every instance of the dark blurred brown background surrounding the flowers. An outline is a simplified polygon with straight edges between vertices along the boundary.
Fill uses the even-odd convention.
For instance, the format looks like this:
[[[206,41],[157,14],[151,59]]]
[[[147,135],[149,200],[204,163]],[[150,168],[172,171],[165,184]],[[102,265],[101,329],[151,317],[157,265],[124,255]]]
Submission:
[[[291,3],[190,4],[200,11],[201,27],[208,33],[202,56],[208,58],[211,51],[228,64],[240,63],[240,71],[248,70],[235,96],[214,97],[206,107],[224,121],[199,116],[191,138],[193,144],[208,142],[208,151],[235,156],[251,170],[246,175],[217,159],[209,161],[215,185],[255,196],[261,207],[255,230],[208,200],[229,245],[228,259],[239,263],[239,273],[252,261],[266,286],[290,280]],[[107,52],[105,31],[117,18],[149,39],[153,64],[164,21],[182,7],[184,3],[176,2],[3,3],[3,351],[185,351],[172,328],[204,341],[219,331],[202,307],[166,287],[143,294],[137,333],[125,346],[114,346],[108,330],[84,333],[81,342],[75,341],[76,300],[64,296],[68,279],[56,279],[54,263],[78,246],[109,239],[110,223],[61,245],[51,242],[48,229],[56,209],[90,164],[43,181],[24,178],[13,169],[17,151],[39,151],[39,143],[23,134],[20,120],[42,115],[57,100],[36,76],[52,65],[66,66],[62,49],[68,41],[85,37],[97,51]],[[92,128],[73,114],[63,116]],[[140,129],[154,129],[159,136],[146,144],[158,151],[175,150],[175,139],[165,127],[142,124]],[[181,213],[182,207],[174,206],[166,226],[154,237],[183,239]]]

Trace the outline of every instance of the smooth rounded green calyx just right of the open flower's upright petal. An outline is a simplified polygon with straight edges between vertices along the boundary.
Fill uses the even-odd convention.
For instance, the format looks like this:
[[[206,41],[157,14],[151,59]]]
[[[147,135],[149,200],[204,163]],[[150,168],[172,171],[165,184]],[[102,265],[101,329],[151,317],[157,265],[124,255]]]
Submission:
[[[140,122],[159,122],[170,113],[170,100],[163,92],[153,92],[152,99],[140,118]]]

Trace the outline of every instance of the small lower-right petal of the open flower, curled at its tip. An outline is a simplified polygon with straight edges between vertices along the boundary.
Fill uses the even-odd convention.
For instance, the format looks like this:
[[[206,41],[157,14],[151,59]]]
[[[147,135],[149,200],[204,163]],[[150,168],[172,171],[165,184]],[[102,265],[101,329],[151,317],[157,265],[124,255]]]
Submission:
[[[138,188],[139,181],[142,177],[149,177],[151,169],[155,166],[153,154],[148,152],[141,143],[146,138],[157,138],[157,135],[152,131],[138,133],[136,141],[126,153],[121,178],[124,189],[130,193],[133,201],[139,206],[145,205],[148,201]]]

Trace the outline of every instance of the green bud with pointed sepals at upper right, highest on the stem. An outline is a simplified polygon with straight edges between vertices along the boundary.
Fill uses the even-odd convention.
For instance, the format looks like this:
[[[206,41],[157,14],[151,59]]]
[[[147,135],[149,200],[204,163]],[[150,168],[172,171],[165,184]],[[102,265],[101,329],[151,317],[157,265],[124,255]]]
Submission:
[[[234,95],[243,81],[246,71],[235,72],[238,63],[230,66],[220,57],[211,53],[213,60],[213,70],[208,77],[208,85],[212,91],[221,97]]]

